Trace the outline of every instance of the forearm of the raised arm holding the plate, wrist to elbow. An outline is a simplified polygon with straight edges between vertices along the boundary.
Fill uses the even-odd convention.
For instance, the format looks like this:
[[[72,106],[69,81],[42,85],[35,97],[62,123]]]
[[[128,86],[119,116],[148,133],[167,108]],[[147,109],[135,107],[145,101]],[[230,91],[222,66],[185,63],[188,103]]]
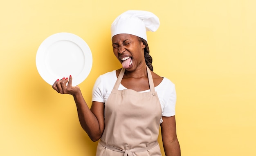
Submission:
[[[81,127],[85,130],[92,141],[97,141],[101,137],[101,130],[99,127],[99,121],[92,113],[87,103],[85,102],[81,91],[74,95],[76,103],[77,113]]]

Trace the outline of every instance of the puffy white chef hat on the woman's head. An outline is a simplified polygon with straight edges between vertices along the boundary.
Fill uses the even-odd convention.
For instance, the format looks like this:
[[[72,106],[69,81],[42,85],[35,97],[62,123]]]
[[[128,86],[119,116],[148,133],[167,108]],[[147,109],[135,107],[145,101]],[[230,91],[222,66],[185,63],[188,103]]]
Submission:
[[[119,15],[111,25],[111,38],[120,33],[128,33],[147,40],[146,31],[156,31],[159,19],[148,11],[128,10]]]

